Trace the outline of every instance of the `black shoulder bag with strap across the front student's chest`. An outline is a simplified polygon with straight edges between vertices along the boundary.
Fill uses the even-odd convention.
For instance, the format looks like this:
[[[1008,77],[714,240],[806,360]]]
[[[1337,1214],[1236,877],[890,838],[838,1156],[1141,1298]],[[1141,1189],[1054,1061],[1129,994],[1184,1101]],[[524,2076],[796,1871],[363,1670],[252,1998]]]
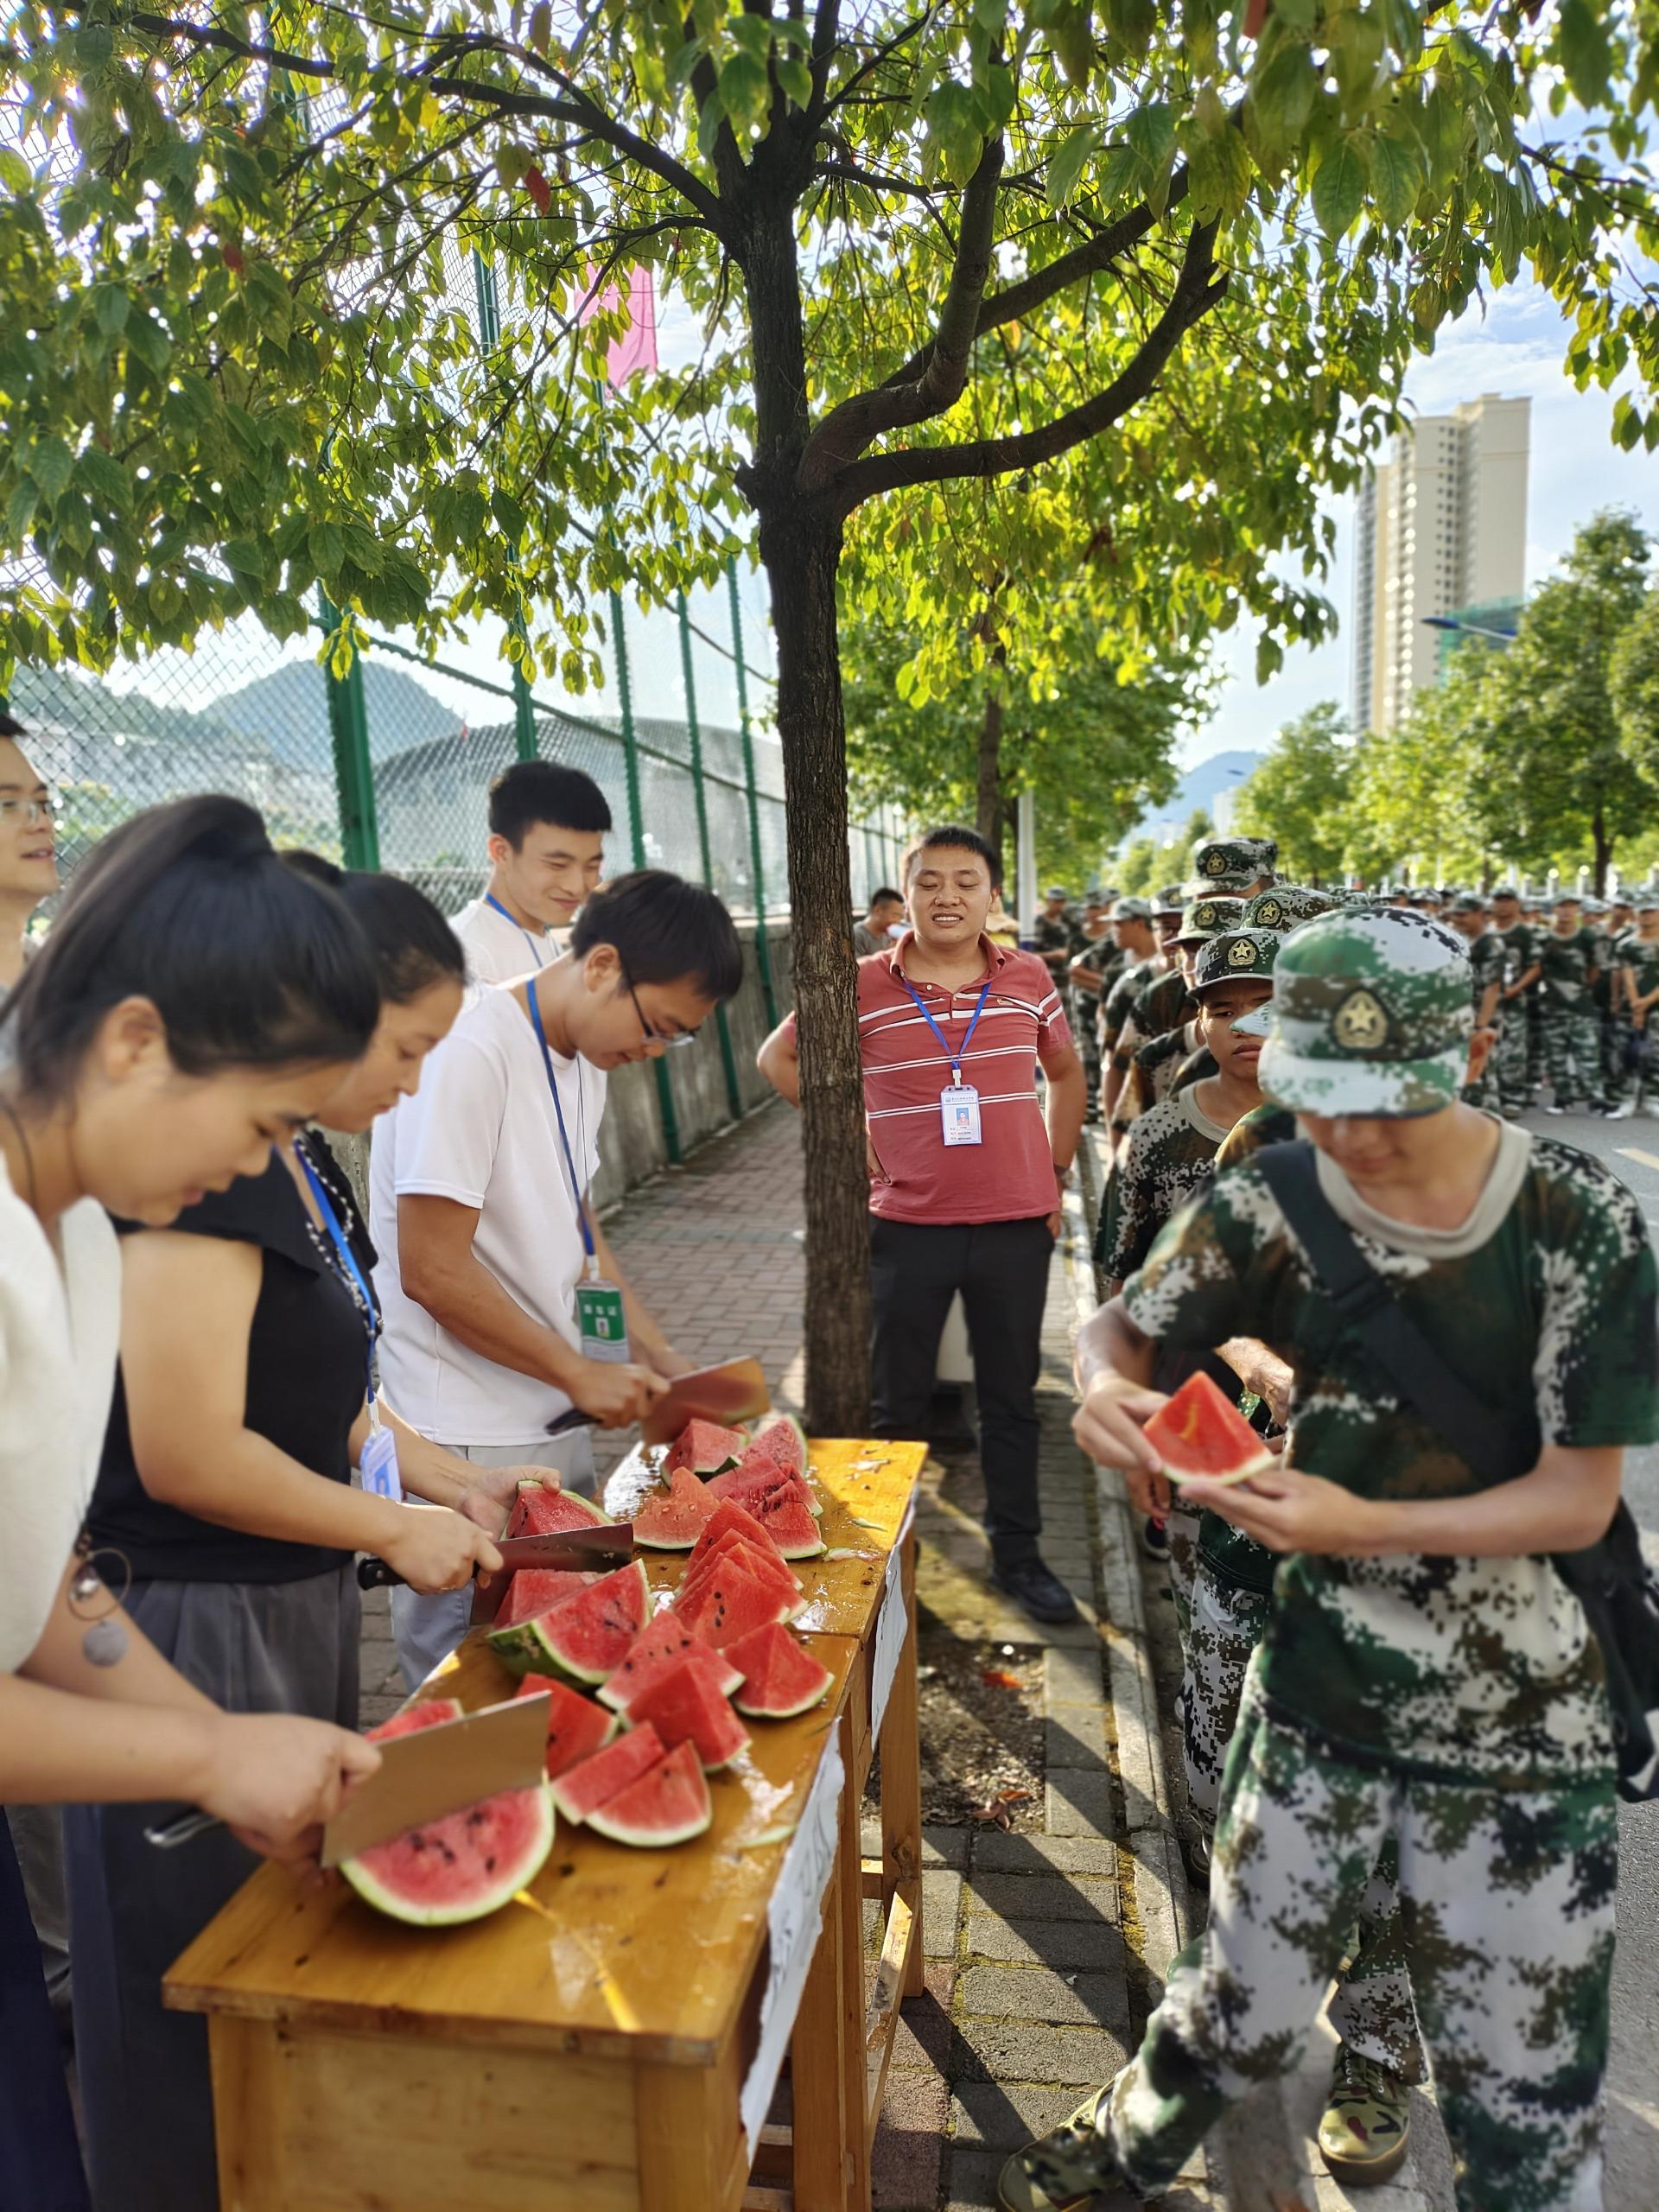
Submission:
[[[1537,1422],[1522,1425],[1484,1405],[1453,1374],[1436,1345],[1400,1307],[1387,1281],[1354,1243],[1347,1223],[1318,1188],[1312,1144],[1276,1144],[1254,1168],[1296,1232],[1323,1283],[1332,1318],[1354,1329],[1387,1380],[1458,1458],[1491,1482],[1526,1473],[1540,1453]],[[1630,1506],[1588,1551],[1551,1553],[1557,1575],[1584,1606],[1601,1646],[1613,1705],[1619,1796],[1639,1805],[1659,1796],[1659,1579],[1641,1555]]]

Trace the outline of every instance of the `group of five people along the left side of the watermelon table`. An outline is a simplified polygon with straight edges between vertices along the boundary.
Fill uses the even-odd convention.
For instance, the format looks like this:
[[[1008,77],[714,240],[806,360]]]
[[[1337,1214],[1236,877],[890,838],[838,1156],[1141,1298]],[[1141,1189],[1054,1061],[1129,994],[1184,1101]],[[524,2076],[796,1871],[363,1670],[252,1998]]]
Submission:
[[[0,2205],[212,2212],[206,2031],[161,1975],[378,1765],[354,1553],[407,1586],[414,1681],[520,1475],[591,1480],[586,1425],[686,1365],[586,1192],[608,1071],[690,1037],[741,953],[677,876],[597,889],[606,827],[586,776],[507,770],[453,929],[179,801],[31,951],[53,803],[0,721]],[[365,1225],[323,1130],[369,1128]],[[588,1292],[626,1316],[604,1358]],[[221,1825],[150,1847],[181,1803]]]

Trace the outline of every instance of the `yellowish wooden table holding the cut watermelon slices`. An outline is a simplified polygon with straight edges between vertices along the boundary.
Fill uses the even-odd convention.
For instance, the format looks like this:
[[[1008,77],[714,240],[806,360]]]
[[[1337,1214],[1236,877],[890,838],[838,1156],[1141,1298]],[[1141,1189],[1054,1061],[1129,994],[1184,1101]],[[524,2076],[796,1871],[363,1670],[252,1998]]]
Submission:
[[[261,1867],[177,1960],[166,2002],[208,2015],[223,2212],[867,2212],[898,2002],[922,1986],[922,1447],[814,1442],[810,1462],[841,1557],[796,1562],[796,1626],[832,1690],[794,1721],[752,1723],[750,1750],[712,1776],[706,1836],[630,1851],[560,1827],[533,1889],[460,1929],[400,1927],[343,1882],[305,1891]],[[613,1513],[639,1480],[624,1462]],[[641,1557],[655,1588],[679,1582],[684,1555]],[[883,1858],[863,1863],[887,1590],[905,1608],[902,1644],[880,1721]],[[420,1694],[473,1710],[513,1688],[473,1635]],[[805,1900],[818,1938],[792,2037],[794,2126],[757,2130],[752,2146],[739,2097],[770,1913],[832,1745],[845,1790],[821,1907]],[[865,1896],[883,1900],[874,1991]]]

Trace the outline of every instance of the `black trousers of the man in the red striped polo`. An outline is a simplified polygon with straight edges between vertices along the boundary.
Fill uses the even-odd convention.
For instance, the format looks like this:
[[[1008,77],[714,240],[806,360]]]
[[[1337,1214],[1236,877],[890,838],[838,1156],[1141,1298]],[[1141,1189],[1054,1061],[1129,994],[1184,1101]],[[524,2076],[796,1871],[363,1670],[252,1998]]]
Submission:
[[[938,1345],[951,1298],[973,1347],[984,1533],[1000,1562],[1035,1557],[1037,1367],[1055,1241],[1029,1221],[869,1219],[869,1383],[876,1436],[927,1436]]]

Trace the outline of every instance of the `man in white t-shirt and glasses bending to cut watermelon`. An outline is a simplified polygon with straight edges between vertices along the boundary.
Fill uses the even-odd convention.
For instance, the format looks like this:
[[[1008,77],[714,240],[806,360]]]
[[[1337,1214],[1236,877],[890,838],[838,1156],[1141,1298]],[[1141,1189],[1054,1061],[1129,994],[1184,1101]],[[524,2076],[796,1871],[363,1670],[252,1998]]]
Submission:
[[[549,1429],[573,1409],[626,1427],[690,1367],[628,1290],[586,1194],[606,1071],[690,1037],[741,980],[712,891],[661,869],[619,876],[586,900],[566,953],[471,1000],[416,1097],[376,1124],[380,1374],[411,1427],[462,1458],[591,1486],[588,1429]],[[588,1276],[622,1292],[626,1360],[584,1352]],[[456,1648],[469,1604],[394,1593],[411,1688]]]

